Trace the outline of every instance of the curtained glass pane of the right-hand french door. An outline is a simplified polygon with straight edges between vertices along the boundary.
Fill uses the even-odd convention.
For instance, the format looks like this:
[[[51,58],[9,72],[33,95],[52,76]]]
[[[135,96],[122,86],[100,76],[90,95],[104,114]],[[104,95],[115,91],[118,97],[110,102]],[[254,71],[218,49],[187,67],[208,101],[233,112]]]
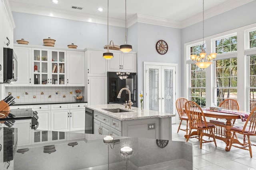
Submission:
[[[164,112],[173,112],[173,70],[164,69]]]

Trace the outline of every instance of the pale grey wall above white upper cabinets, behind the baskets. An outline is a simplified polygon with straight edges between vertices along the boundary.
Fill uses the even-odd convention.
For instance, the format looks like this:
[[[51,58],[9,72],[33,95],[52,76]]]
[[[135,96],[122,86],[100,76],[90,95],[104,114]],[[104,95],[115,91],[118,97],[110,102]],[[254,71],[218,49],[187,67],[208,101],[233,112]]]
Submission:
[[[43,39],[55,39],[55,47],[67,48],[74,43],[78,49],[102,48],[107,44],[107,25],[83,21],[12,12],[16,24],[14,43],[18,39],[30,45],[43,45]],[[109,41],[115,45],[124,43],[125,28],[109,26]]]

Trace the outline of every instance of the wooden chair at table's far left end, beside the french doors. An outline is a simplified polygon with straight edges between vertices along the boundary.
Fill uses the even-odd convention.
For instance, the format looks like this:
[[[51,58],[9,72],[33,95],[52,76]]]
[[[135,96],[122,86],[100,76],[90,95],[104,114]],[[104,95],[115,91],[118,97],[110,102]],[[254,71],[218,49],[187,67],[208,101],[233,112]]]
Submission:
[[[179,130],[182,130],[182,131],[186,131],[186,135],[188,135],[188,116],[184,111],[184,106],[186,102],[188,102],[186,98],[178,98],[176,100],[176,109],[180,117],[180,125],[183,120],[186,121],[186,129],[180,129],[180,125],[179,125],[177,133],[179,133]]]

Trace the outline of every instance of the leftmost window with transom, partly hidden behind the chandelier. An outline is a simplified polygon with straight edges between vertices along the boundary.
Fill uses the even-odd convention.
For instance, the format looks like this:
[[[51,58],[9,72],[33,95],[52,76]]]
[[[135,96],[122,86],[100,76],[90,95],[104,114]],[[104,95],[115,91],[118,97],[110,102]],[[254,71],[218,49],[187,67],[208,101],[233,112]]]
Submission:
[[[190,55],[199,55],[201,53],[203,45],[196,45],[190,47]],[[205,94],[205,70],[198,68],[196,64],[190,64],[190,95],[189,98],[193,102],[196,102],[199,106],[206,106],[206,94]]]

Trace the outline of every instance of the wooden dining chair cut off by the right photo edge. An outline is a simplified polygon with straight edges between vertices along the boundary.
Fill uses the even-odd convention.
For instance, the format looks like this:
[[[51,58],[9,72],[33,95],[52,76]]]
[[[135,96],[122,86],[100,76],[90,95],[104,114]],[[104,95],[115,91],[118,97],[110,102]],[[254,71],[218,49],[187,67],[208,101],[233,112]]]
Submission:
[[[252,109],[250,115],[248,116],[244,126],[233,126],[231,127],[231,132],[233,132],[229,149],[230,151],[231,147],[236,147],[244,150],[249,150],[250,156],[252,158],[252,144],[250,142],[250,136],[256,136],[256,107]],[[234,139],[234,136],[236,133],[240,133],[244,135],[243,142],[241,143],[238,139]],[[247,136],[247,141],[246,141],[246,136]],[[240,146],[239,146],[240,145]],[[254,145],[256,146],[256,145]],[[248,148],[247,148],[248,147]]]

